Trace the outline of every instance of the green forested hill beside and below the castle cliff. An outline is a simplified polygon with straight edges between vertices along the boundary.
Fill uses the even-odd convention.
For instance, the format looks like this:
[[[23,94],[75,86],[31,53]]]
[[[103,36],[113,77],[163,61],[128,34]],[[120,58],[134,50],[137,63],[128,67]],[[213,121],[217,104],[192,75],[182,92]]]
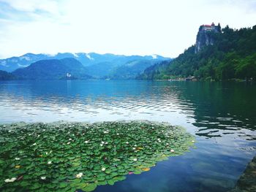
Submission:
[[[197,53],[193,45],[173,61],[150,66],[138,79],[195,76],[203,80],[256,80],[256,26],[239,30],[226,26],[221,33],[209,31],[208,36],[214,39],[213,45]]]

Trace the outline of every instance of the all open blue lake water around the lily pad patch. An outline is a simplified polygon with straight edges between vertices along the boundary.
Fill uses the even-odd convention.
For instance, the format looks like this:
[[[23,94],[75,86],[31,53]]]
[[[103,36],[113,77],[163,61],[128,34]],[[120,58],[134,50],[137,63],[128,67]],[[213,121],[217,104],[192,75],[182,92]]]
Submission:
[[[256,155],[256,85],[244,82],[0,82],[0,123],[153,120],[196,136],[191,152],[96,191],[229,191]]]

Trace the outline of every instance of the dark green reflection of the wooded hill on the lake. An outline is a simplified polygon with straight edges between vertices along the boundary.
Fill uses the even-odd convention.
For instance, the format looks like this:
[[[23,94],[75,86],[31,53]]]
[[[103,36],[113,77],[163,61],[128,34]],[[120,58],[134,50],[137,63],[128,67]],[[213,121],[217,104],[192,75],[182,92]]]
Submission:
[[[195,107],[197,135],[221,137],[241,128],[255,130],[256,86],[244,82],[184,82],[180,99]]]

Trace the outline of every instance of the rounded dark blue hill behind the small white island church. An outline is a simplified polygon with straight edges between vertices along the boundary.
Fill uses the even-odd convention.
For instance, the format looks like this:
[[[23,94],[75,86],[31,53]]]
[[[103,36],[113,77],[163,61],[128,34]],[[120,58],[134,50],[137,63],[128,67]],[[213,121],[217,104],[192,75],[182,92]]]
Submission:
[[[59,80],[64,78],[91,78],[86,68],[75,58],[40,60],[23,69],[12,72],[19,79],[26,80]]]

